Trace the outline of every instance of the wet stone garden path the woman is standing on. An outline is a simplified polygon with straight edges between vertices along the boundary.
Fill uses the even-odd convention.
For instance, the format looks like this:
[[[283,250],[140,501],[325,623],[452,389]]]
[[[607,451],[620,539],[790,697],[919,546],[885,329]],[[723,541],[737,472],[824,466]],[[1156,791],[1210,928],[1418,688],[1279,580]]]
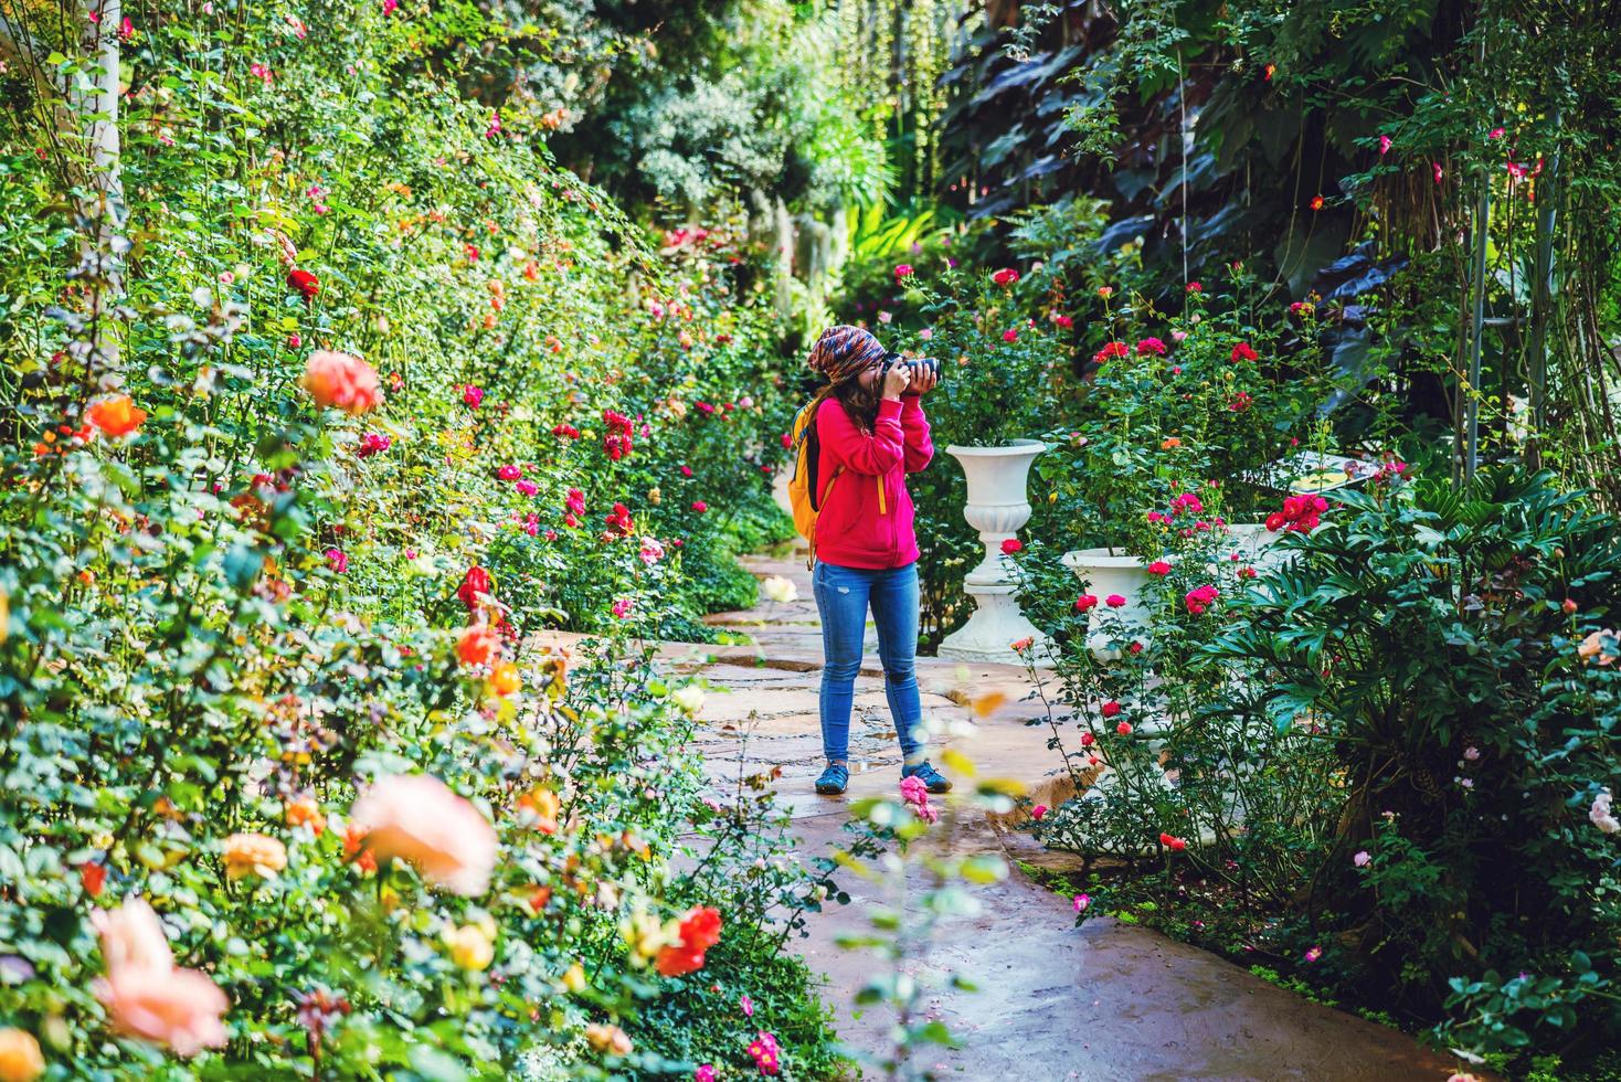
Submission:
[[[851,787],[846,797],[819,797],[817,685],[820,630],[804,560],[746,560],[759,577],[794,581],[799,601],[762,601],[749,612],[710,617],[747,633],[751,646],[666,643],[661,654],[676,669],[712,682],[704,716],[710,722],[702,752],[716,777],[736,777],[744,747],[755,765],[781,766],[780,800],[791,808],[804,857],[841,846],[846,802],[892,795],[900,750],[883,700],[875,645],[856,684],[851,727]],[[1026,674],[1013,666],[963,666],[919,659],[924,713],[963,729],[952,737],[986,777],[1015,777],[1052,786],[1055,753],[1047,727],[1026,726],[1031,703]],[[725,690],[723,690],[725,688]],[[961,703],[1003,692],[1008,703],[977,719]],[[747,732],[744,742],[742,734]],[[939,765],[939,758],[935,758]],[[1049,789],[1050,792],[1050,789]],[[1055,794],[1062,799],[1062,794]],[[1057,799],[1047,800],[1055,803]],[[987,816],[960,818],[958,850],[1000,852],[1039,863],[1042,850],[1028,836]],[[922,873],[916,871],[917,889]],[[866,886],[843,876],[849,905],[832,905],[812,918],[798,949],[825,973],[823,995],[838,1011],[840,1035],[854,1048],[887,1048],[890,1019],[880,1009],[858,1012],[853,998],[877,962],[835,944],[840,935],[866,935]],[[1444,1080],[1448,1058],[1409,1037],[1352,1014],[1307,1003],[1213,954],[1165,936],[1097,918],[1073,927],[1067,899],[1026,878],[1016,867],[990,886],[974,888],[981,914],[942,930],[926,969],[958,972],[979,991],[947,991],[929,1003],[963,1042],[961,1050],[924,1048],[922,1064],[963,1079],[1187,1080],[1187,1079],[1344,1079],[1347,1082]]]

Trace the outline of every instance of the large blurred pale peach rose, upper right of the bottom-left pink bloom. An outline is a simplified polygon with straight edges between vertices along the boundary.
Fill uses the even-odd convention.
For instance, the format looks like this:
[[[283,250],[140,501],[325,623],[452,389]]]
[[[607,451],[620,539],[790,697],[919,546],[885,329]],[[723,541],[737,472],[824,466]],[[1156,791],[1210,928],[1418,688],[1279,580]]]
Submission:
[[[366,849],[379,860],[405,860],[452,894],[472,897],[490,889],[496,831],[478,808],[438,777],[379,777],[355,802],[352,818],[366,833]]]

